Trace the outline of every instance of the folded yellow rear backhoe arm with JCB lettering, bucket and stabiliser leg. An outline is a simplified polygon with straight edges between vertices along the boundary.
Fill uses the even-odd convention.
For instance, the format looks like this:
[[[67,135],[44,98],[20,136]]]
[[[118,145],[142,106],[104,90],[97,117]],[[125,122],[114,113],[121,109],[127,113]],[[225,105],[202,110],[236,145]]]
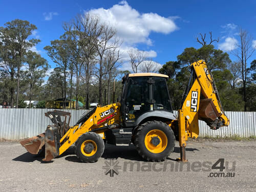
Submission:
[[[204,60],[190,65],[191,74],[178,110],[178,129],[181,161],[186,161],[185,147],[188,137],[199,135],[198,120],[203,120],[211,129],[228,126],[229,119],[224,113],[218,91]]]

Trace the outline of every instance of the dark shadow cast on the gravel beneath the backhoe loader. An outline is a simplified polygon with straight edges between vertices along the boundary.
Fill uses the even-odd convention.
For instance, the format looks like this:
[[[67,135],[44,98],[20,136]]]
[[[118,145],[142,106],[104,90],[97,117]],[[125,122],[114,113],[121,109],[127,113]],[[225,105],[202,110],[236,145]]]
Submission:
[[[194,152],[199,151],[197,148],[186,148],[186,151],[188,152]],[[180,153],[180,147],[175,147],[173,153]],[[175,155],[177,156],[177,155]],[[75,155],[75,146],[72,145],[66,152],[61,154],[58,157],[55,157],[55,159],[65,157],[65,160],[72,161],[72,162],[80,162],[76,155]],[[105,145],[105,150],[103,155],[101,156],[104,159],[127,159],[132,161],[146,161],[141,156],[139,156],[138,152],[136,151],[136,147],[134,145],[130,146],[115,146],[111,144]],[[177,156],[178,158],[179,156]],[[41,163],[51,163],[53,161],[45,162],[42,161],[44,157],[40,157],[38,155],[32,155],[30,153],[25,153],[23,155],[20,155],[14,159],[13,161],[22,161],[22,162],[33,162],[33,161],[39,161]],[[170,157],[167,157],[168,160],[176,161],[176,159],[172,159]]]

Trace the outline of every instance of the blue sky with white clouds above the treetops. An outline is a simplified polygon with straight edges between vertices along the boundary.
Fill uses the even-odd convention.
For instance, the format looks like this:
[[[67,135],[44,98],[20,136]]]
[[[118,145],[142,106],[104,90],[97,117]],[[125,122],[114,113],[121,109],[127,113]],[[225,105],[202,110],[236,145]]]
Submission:
[[[19,18],[37,26],[33,33],[41,42],[33,48],[46,55],[44,47],[62,33],[62,23],[78,13],[94,12],[117,26],[123,38],[124,60],[129,49],[147,51],[163,64],[176,60],[187,47],[200,48],[199,33],[220,37],[215,47],[230,52],[235,49],[237,32],[246,29],[256,39],[256,1],[1,1],[0,26]],[[255,41],[256,43],[256,41]],[[126,56],[125,56],[126,54]],[[230,54],[231,60],[236,60]],[[249,62],[256,59],[256,53]],[[126,60],[127,61],[127,60]],[[128,69],[124,62],[123,69]]]

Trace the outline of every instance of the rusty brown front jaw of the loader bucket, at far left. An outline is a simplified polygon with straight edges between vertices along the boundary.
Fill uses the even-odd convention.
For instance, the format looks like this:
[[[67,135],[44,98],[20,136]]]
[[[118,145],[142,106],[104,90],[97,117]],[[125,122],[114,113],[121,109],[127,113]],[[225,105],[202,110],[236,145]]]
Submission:
[[[26,150],[31,154],[38,154],[42,146],[45,145],[45,133],[24,139],[20,141],[20,144],[26,148]]]

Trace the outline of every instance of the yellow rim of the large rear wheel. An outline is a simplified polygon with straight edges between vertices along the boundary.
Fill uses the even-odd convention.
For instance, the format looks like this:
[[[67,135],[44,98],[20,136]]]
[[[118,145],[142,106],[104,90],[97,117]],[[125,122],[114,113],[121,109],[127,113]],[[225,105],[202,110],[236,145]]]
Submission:
[[[154,137],[157,137],[160,140],[159,144],[154,145],[152,143],[152,139]],[[151,130],[150,132],[148,132],[146,134],[144,143],[145,143],[147,150],[150,151],[151,153],[161,153],[162,151],[165,150],[165,148],[167,146],[167,137],[166,137],[165,133],[162,132],[161,130]]]

